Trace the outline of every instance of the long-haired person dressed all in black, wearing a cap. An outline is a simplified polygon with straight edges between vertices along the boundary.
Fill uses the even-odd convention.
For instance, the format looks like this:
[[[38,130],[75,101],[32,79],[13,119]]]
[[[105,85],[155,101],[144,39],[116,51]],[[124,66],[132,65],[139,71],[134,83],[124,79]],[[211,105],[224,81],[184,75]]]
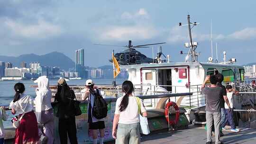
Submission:
[[[67,136],[70,144],[77,144],[75,111],[73,99],[74,91],[69,88],[64,79],[58,81],[55,102],[58,103],[56,116],[59,117],[59,136],[60,143],[67,144]]]

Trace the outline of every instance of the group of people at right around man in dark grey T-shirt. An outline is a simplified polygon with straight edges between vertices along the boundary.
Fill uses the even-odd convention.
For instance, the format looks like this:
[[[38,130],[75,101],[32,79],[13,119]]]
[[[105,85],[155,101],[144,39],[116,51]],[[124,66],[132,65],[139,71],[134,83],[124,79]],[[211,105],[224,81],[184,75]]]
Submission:
[[[219,138],[224,135],[222,130],[225,129],[228,123],[232,132],[239,132],[233,119],[233,96],[238,94],[238,91],[232,89],[231,85],[223,86],[221,84],[223,80],[224,77],[221,73],[209,75],[205,78],[201,87],[206,100],[206,144],[212,143],[213,131],[215,144],[223,144]],[[210,87],[205,87],[208,81],[210,81]]]

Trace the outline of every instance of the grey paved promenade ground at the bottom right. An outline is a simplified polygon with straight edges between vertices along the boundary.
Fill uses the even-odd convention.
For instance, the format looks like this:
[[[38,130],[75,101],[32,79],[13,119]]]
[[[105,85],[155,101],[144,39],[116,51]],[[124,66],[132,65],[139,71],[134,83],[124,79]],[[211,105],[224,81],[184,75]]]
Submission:
[[[256,144],[256,129],[242,129],[238,133],[223,131],[220,140],[224,144]],[[213,137],[213,141],[215,138]],[[141,138],[141,144],[205,144],[206,131],[203,127],[189,126],[189,129],[177,131],[159,131]],[[110,142],[108,144],[114,144]],[[212,144],[215,144],[214,142]]]

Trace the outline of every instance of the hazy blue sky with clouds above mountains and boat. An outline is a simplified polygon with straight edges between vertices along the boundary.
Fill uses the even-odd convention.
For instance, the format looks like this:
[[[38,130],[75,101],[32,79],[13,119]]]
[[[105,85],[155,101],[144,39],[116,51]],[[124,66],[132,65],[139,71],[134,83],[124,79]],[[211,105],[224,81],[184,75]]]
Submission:
[[[238,64],[256,62],[256,0],[0,0],[0,55],[61,52],[74,60],[75,50],[85,49],[85,65],[109,65],[112,50],[106,45],[162,43],[170,61],[183,62],[189,42],[188,28],[179,22],[200,25],[192,28],[198,42],[199,60],[235,57]],[[159,45],[160,46],[160,45]],[[152,57],[152,48],[137,49]],[[156,56],[157,46],[153,47]]]

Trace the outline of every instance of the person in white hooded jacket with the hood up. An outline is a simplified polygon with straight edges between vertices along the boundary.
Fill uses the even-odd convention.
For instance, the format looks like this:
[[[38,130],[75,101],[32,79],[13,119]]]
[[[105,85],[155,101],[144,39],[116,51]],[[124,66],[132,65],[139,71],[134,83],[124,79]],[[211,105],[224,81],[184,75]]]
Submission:
[[[46,76],[40,76],[36,81],[37,97],[35,98],[37,122],[43,125],[43,132],[39,129],[39,135],[47,137],[47,144],[54,142],[54,112],[51,105],[52,92],[49,89],[49,79]]]

